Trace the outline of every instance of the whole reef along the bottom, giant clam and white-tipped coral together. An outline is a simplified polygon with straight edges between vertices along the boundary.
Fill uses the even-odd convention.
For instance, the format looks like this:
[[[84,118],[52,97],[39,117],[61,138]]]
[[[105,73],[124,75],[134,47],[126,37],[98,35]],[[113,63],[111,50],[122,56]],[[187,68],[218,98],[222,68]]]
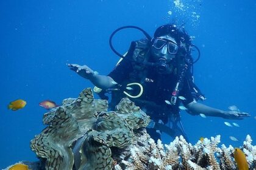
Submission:
[[[155,143],[146,132],[148,115],[128,98],[108,112],[107,101],[94,99],[87,88],[62,104],[44,114],[48,126],[30,141],[40,159],[22,162],[30,169],[237,169],[234,148],[219,148],[219,135],[194,145],[182,136],[170,144]],[[249,169],[256,169],[256,146],[249,135],[240,149]]]

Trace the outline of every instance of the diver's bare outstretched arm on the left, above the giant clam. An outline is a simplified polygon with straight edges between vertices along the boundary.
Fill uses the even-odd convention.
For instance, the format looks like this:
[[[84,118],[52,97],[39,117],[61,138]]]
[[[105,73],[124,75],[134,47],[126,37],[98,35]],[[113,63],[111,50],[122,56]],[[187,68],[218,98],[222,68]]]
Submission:
[[[98,73],[91,70],[88,66],[79,66],[78,64],[68,64],[69,69],[73,70],[81,77],[84,77],[91,81],[94,86],[101,89],[109,89],[115,86],[114,80],[106,75],[99,75]]]

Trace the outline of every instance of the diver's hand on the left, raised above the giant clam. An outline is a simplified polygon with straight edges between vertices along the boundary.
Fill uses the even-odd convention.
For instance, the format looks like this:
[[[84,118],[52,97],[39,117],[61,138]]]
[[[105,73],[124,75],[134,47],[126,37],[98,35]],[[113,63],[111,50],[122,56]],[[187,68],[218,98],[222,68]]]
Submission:
[[[69,69],[77,72],[81,77],[89,79],[93,77],[94,72],[88,66],[80,66],[78,64],[68,64]]]

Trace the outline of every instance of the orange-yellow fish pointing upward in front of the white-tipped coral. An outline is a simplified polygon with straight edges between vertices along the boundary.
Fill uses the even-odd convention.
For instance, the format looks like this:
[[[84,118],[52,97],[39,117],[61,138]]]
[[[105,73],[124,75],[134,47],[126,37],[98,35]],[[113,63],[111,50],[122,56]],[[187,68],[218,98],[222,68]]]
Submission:
[[[238,170],[248,170],[248,163],[246,161],[246,156],[244,152],[241,151],[239,148],[235,148],[234,157],[236,161],[236,165],[238,166]]]

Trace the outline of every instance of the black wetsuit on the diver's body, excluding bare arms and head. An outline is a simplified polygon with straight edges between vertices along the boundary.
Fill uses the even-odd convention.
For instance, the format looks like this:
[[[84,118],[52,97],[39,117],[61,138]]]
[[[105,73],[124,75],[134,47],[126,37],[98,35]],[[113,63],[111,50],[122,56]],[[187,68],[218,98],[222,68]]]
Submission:
[[[115,67],[115,69],[112,70],[112,72],[108,74],[108,76],[112,77],[113,80],[116,81],[116,83],[122,84],[124,87],[126,87],[126,84],[128,83],[141,83],[144,89],[143,94],[139,98],[130,98],[130,100],[134,101],[137,106],[140,106],[141,109],[146,111],[146,114],[148,114],[155,122],[158,122],[158,120],[162,120],[163,123],[166,124],[168,123],[168,118],[170,120],[171,117],[174,117],[172,118],[174,119],[172,120],[173,123],[175,119],[180,118],[179,105],[180,101],[182,100],[178,99],[175,106],[166,104],[165,100],[171,100],[172,90],[174,90],[174,87],[176,86],[177,77],[176,75],[174,75],[174,73],[160,74],[152,68],[146,69],[148,70],[146,71],[146,75],[143,77],[144,80],[141,80],[141,78],[135,78],[135,80],[130,80],[131,74],[133,73],[132,62],[130,60],[123,60]],[[133,90],[124,90],[126,90],[126,92],[128,92],[129,94],[138,94],[138,86],[131,87],[133,88]],[[121,98],[127,97],[123,94],[122,91],[121,93],[119,93],[118,96],[115,95],[115,97],[113,97],[113,95],[112,98],[115,98],[113,106],[118,104]],[[182,101],[184,105],[193,101],[193,96],[191,95],[191,91],[187,82],[183,83],[183,87],[182,90],[180,90],[179,92],[179,96],[186,98],[186,100]],[[172,124],[173,129],[175,129],[175,126],[176,124]],[[180,129],[176,130],[177,132],[175,135],[185,135],[184,132],[180,131]],[[149,132],[151,137],[154,138],[154,140],[160,138],[160,134],[157,133],[155,129],[147,129],[147,131]]]

